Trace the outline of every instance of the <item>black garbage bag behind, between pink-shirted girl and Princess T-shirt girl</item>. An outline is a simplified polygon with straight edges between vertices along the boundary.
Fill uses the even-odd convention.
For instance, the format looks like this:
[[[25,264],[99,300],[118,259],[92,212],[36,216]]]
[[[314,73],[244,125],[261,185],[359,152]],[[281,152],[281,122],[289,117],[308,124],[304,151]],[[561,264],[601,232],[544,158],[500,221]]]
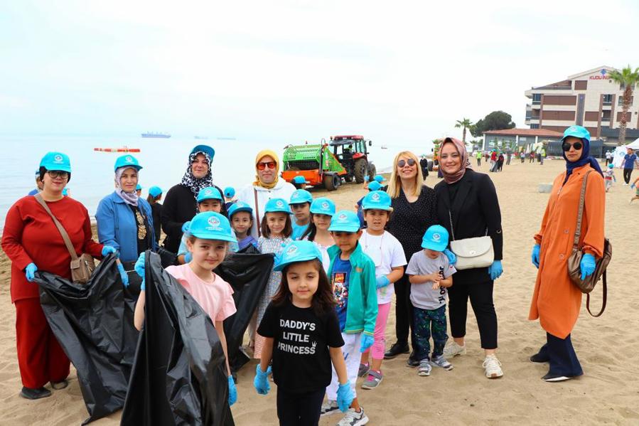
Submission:
[[[249,247],[254,248],[252,245],[246,248],[250,250]],[[273,261],[272,253],[259,255],[237,252],[215,269],[216,274],[231,284],[237,309],[234,315],[224,320],[231,371],[238,371],[250,359],[240,350],[242,337],[269,282]]]

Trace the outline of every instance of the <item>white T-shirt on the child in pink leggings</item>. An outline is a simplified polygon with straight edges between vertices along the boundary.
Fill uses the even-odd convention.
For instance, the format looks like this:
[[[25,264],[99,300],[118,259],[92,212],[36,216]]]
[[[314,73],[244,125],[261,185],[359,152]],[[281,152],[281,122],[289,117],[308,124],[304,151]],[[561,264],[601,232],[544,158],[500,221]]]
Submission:
[[[370,235],[364,230],[360,238],[362,250],[375,263],[375,277],[389,275],[394,267],[406,265],[406,255],[402,243],[397,238],[384,231],[382,235]],[[377,304],[390,303],[395,287],[391,282],[386,287],[377,289]]]

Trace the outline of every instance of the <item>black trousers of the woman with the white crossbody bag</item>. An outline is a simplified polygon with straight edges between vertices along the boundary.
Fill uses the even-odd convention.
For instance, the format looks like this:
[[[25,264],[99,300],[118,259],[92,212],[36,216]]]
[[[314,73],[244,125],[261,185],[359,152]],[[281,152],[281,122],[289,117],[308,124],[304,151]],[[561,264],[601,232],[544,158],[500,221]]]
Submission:
[[[396,287],[397,288],[397,287]],[[397,292],[397,289],[395,290]],[[481,347],[497,348],[497,314],[493,304],[493,281],[463,284],[454,282],[449,288],[449,319],[453,337],[466,336],[468,299],[475,312]]]

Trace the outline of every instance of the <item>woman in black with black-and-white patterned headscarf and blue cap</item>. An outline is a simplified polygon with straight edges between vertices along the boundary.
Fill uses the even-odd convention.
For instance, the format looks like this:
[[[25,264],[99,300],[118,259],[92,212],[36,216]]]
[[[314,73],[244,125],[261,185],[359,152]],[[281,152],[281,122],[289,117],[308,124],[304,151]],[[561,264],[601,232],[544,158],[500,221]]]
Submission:
[[[182,239],[182,226],[193,219],[198,213],[198,193],[200,189],[214,186],[222,193],[222,190],[213,185],[211,164],[215,150],[207,145],[198,145],[188,155],[188,166],[182,177],[182,181],[173,186],[164,197],[162,206],[162,229],[166,234],[164,248],[171,252],[178,252]],[[222,206],[222,215],[226,215],[226,208]]]

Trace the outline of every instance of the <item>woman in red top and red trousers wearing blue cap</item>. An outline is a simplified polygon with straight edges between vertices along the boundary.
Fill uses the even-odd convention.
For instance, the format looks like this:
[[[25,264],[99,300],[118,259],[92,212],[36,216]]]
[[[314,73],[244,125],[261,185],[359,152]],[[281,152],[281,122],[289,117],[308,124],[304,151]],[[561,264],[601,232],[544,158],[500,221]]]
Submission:
[[[69,157],[60,152],[46,154],[40,163],[40,176],[44,183],[40,194],[69,234],[77,255],[102,257],[115,252],[113,247],[92,240],[85,206],[62,195],[71,179]],[[11,302],[16,305],[18,366],[23,384],[20,395],[45,398],[51,395],[44,388],[47,382],[53,389],[67,387],[70,362],[49,328],[33,275],[43,270],[70,279],[71,256],[53,219],[34,196],[21,198],[9,209],[2,249],[11,260]]]

